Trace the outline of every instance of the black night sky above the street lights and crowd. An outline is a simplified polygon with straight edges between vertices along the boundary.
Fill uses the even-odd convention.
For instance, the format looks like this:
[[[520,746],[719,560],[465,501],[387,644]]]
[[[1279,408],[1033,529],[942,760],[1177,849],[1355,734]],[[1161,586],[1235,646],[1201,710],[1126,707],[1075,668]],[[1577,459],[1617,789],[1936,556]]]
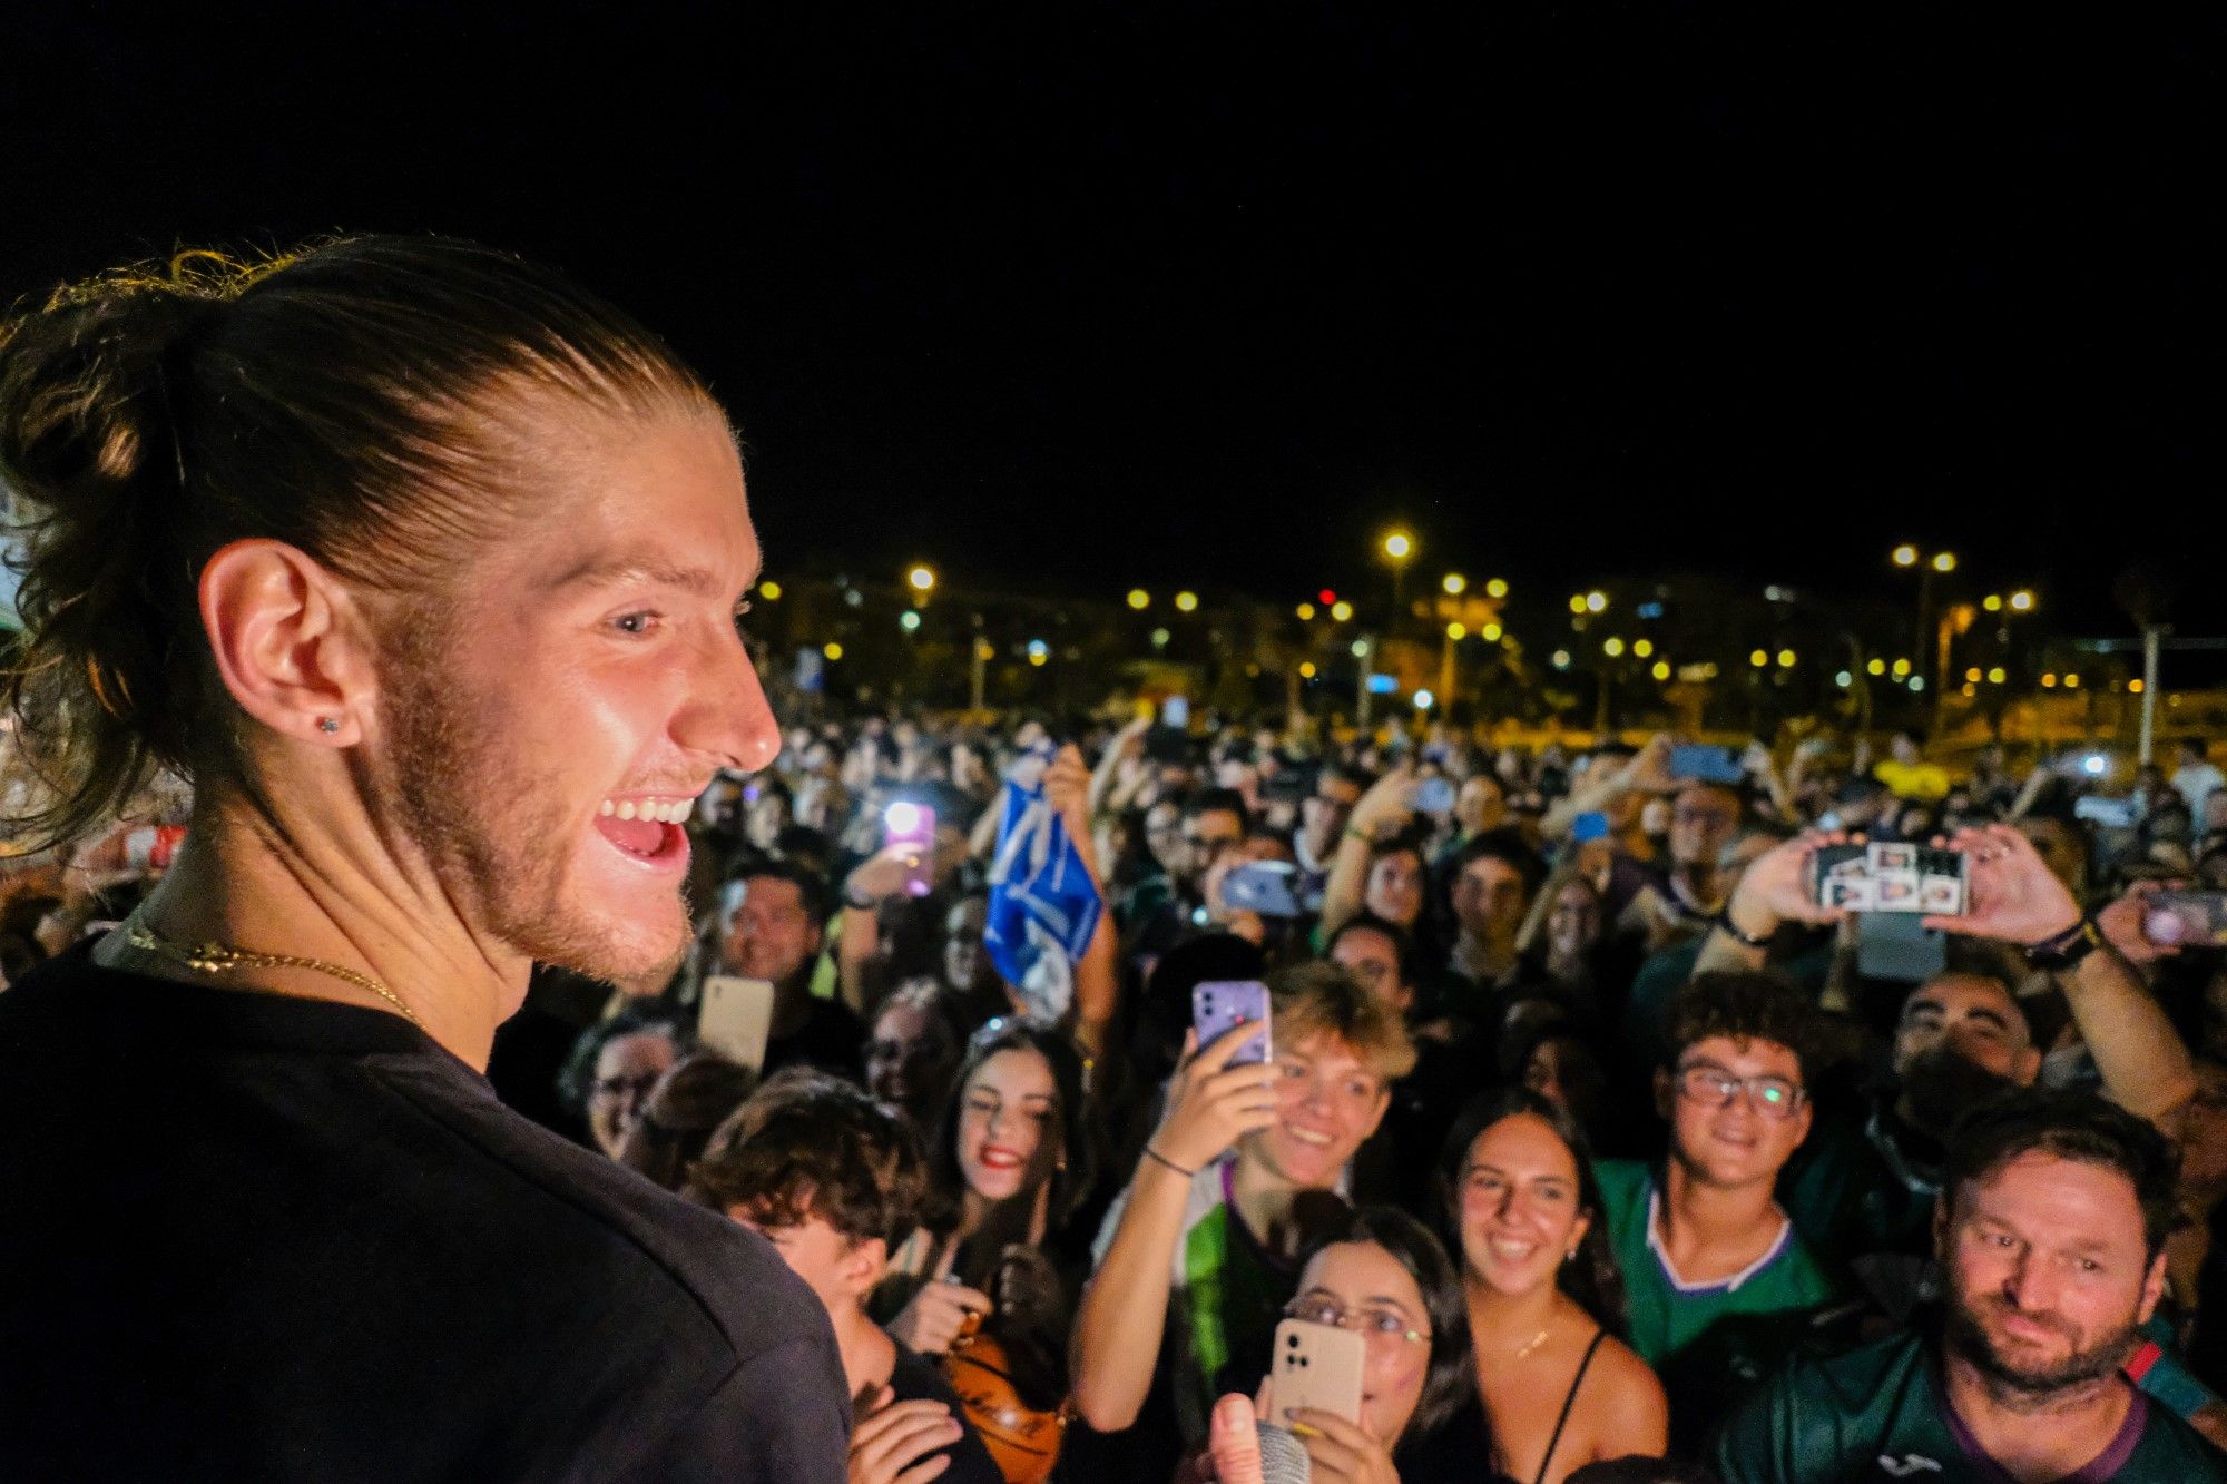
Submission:
[[[775,570],[1298,597],[1401,519],[1831,602],[1913,539],[2227,633],[2216,11],[11,9],[0,294],[550,258],[715,381]]]

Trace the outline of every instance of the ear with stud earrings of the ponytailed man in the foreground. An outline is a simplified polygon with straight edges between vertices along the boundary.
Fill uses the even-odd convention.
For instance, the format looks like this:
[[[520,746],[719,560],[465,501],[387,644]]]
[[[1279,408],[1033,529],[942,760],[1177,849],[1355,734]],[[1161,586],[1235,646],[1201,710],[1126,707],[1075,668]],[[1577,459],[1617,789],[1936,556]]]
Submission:
[[[200,626],[241,711],[283,738],[363,740],[372,644],[347,588],[285,541],[218,548],[200,568]]]

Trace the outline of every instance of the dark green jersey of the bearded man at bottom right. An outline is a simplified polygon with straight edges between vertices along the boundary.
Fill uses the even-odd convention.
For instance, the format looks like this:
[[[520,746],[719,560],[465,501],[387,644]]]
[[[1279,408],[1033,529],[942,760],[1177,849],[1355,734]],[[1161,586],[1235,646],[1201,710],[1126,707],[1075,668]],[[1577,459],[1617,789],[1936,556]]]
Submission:
[[[2011,1477],[1949,1406],[1940,1359],[1922,1335],[1788,1364],[1726,1419],[1708,1462],[1724,1484]],[[2100,1480],[2218,1484],[2227,1482],[2227,1457],[2129,1388],[2118,1437],[2062,1484]]]

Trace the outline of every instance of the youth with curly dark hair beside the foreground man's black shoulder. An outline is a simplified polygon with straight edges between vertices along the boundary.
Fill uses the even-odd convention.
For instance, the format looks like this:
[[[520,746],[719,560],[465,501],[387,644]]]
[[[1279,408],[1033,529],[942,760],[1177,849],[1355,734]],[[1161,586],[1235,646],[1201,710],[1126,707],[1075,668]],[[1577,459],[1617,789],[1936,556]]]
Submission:
[[[826,1306],[853,1397],[851,1484],[922,1480],[929,1462],[942,1480],[1000,1484],[944,1377],[866,1315],[929,1199],[895,1114],[840,1078],[784,1072],[713,1134],[686,1194],[766,1237]]]

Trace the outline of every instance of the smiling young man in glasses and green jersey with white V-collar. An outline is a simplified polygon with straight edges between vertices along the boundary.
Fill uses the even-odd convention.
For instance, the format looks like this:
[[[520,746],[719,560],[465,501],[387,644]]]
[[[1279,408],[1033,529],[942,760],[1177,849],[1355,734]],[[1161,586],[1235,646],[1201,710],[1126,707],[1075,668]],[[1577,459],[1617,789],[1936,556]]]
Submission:
[[[1630,1346],[1657,1368],[1730,1315],[1835,1297],[1773,1194],[1811,1127],[1811,1007],[1766,974],[1704,974],[1670,1007],[1668,1029],[1670,1063],[1655,1076],[1668,1159],[1597,1170]]]

